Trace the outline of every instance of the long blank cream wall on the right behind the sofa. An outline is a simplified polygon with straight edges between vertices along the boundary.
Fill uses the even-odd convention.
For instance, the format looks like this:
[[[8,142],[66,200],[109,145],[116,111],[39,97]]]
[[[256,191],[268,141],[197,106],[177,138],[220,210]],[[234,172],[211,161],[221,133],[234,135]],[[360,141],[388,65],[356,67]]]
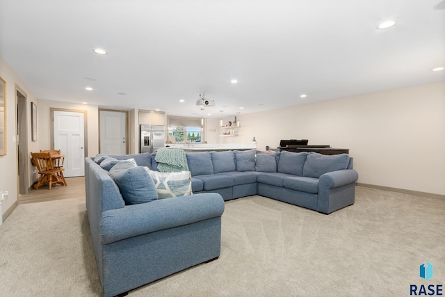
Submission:
[[[359,182],[445,195],[445,82],[239,115],[240,143],[348,148]]]

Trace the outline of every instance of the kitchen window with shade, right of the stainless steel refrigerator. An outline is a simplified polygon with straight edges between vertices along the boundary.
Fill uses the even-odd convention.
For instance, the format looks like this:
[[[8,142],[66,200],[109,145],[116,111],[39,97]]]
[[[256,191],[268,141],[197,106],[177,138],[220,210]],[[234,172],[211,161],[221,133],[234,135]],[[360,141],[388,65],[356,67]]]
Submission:
[[[201,118],[168,116],[168,143],[201,143]]]

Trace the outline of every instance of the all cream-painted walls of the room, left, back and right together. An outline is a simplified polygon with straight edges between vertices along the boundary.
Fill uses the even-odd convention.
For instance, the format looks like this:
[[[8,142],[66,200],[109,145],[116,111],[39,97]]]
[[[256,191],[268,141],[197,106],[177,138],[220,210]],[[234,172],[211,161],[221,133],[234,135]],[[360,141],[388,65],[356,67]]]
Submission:
[[[31,102],[38,106],[36,142],[31,141],[31,111],[27,109],[29,152],[51,147],[52,107],[87,111],[88,155],[94,156],[99,152],[99,112],[98,106],[37,100],[1,56],[0,76],[7,86],[8,154],[0,156],[0,168],[9,171],[1,173],[0,191],[9,191],[10,195],[3,201],[4,214],[17,202],[15,83],[26,93],[27,106]],[[133,118],[137,123],[137,117]],[[257,148],[264,150],[266,145],[277,147],[280,139],[307,138],[309,144],[350,149],[361,183],[445,195],[445,82],[241,114],[237,118],[241,128],[239,136],[233,138],[219,137],[219,118],[207,119],[207,129],[216,129],[207,131],[207,142],[250,143],[255,136]],[[234,117],[224,120],[233,121]],[[137,127],[134,124],[134,138],[138,136]]]

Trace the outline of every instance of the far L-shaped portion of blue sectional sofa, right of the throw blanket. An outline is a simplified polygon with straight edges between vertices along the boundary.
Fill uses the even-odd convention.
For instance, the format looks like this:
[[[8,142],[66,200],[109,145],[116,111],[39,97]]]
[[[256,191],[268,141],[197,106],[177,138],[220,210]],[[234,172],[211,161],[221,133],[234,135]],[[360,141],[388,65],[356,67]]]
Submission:
[[[220,193],[224,200],[261,195],[323,214],[354,204],[358,174],[348,154],[252,150],[186,155],[193,193]]]

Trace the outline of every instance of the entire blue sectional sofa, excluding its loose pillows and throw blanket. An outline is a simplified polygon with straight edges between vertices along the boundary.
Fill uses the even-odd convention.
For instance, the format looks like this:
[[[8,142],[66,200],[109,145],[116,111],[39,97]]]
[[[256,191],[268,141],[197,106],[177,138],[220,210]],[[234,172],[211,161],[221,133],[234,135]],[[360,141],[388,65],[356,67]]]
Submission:
[[[156,153],[112,157],[150,170],[158,165]],[[186,159],[194,195],[126,205],[107,171],[113,160],[86,158],[86,207],[104,296],[218,257],[224,200],[262,195],[323,214],[355,200],[358,174],[348,154],[250,150]]]

